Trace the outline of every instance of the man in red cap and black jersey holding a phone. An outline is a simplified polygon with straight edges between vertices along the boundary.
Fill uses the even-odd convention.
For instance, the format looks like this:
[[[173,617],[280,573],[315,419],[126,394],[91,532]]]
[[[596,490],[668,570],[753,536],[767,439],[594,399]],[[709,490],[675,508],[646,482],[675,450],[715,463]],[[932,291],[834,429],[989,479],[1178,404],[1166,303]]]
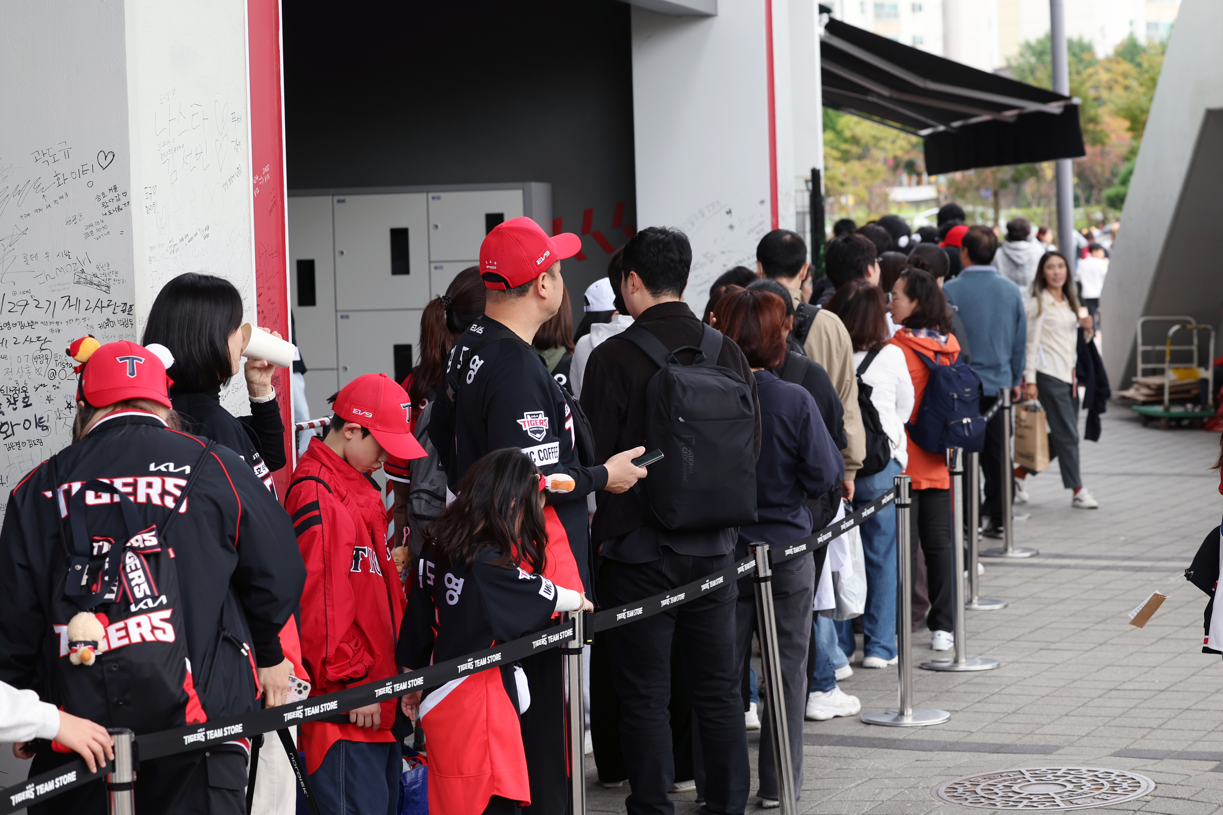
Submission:
[[[488,288],[484,315],[455,340],[429,422],[450,489],[484,453],[517,447],[544,474],[574,479],[569,492],[550,492],[545,577],[566,589],[591,595],[591,549],[586,496],[596,490],[624,492],[646,470],[631,459],[645,447],[626,450],[596,466],[583,414],[548,373],[531,346],[536,331],[560,309],[565,281],[560,261],[577,254],[580,237],[549,237],[530,217],[497,225],[479,247],[479,272]],[[594,398],[598,398],[597,396]],[[567,539],[580,579],[554,571],[567,560],[558,551]],[[522,739],[531,775],[532,815],[563,813],[567,806],[564,706],[560,652],[523,660],[536,700],[522,716]]]

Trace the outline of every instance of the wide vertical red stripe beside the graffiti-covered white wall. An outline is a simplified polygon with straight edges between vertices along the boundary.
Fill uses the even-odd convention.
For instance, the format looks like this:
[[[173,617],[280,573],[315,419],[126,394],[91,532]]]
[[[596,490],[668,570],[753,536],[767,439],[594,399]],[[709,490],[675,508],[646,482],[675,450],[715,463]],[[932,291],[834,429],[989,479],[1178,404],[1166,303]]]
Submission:
[[[259,325],[289,332],[289,236],[285,221],[285,117],[281,99],[280,2],[247,1],[247,59],[251,82],[251,158],[254,192],[256,314]],[[289,463],[275,473],[276,492],[284,496],[296,455],[292,444],[292,386],[290,370],[278,368],[276,389],[285,423]]]

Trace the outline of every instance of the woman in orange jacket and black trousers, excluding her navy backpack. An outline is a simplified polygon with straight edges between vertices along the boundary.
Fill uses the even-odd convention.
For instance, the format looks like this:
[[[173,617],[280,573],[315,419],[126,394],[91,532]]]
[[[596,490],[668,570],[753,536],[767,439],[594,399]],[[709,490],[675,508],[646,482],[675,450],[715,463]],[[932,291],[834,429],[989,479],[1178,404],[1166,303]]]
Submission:
[[[892,290],[892,319],[901,326],[890,343],[905,354],[909,378],[914,389],[912,413],[906,422],[916,422],[921,400],[929,381],[929,370],[918,357],[940,365],[950,365],[960,353],[960,343],[950,334],[951,312],[943,290],[929,272],[905,269]],[[906,434],[909,462],[904,474],[912,479],[912,502],[917,510],[917,543],[926,558],[926,579],[929,588],[929,613],[926,622],[931,630],[931,648],[945,651],[951,648],[951,580],[955,576],[951,551],[951,507],[948,501],[950,478],[942,450],[922,450]]]

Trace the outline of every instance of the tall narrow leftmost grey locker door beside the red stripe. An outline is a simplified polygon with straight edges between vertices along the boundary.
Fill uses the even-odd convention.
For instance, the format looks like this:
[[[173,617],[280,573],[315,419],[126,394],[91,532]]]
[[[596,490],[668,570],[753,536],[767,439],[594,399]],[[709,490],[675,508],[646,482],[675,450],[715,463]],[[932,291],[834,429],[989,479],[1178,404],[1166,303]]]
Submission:
[[[287,205],[289,296],[297,325],[297,347],[307,368],[335,369],[331,198],[294,197]],[[328,391],[324,397],[330,395]]]

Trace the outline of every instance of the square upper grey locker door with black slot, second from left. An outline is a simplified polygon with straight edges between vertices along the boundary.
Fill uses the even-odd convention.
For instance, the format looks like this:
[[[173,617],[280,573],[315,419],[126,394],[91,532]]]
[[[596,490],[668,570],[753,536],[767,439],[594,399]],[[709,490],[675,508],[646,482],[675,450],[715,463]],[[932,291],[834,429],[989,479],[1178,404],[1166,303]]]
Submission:
[[[424,308],[429,299],[424,193],[336,196],[335,308]]]

